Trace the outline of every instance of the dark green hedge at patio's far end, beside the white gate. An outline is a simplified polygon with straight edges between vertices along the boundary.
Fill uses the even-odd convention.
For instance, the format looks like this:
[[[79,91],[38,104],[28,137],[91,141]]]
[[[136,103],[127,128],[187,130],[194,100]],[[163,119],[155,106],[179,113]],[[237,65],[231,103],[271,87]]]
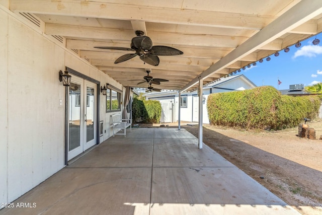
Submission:
[[[159,101],[133,99],[132,117],[135,122],[159,123],[162,107]]]

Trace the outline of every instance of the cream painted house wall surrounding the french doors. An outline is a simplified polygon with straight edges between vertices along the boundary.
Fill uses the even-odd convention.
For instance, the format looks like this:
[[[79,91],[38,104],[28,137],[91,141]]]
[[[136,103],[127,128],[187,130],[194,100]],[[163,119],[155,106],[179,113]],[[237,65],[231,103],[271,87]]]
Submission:
[[[0,23],[0,202],[12,202],[64,167],[65,87],[58,71],[68,66],[101,86],[123,86],[1,4]],[[102,94],[98,105],[102,142],[112,135],[113,113],[106,113]]]

